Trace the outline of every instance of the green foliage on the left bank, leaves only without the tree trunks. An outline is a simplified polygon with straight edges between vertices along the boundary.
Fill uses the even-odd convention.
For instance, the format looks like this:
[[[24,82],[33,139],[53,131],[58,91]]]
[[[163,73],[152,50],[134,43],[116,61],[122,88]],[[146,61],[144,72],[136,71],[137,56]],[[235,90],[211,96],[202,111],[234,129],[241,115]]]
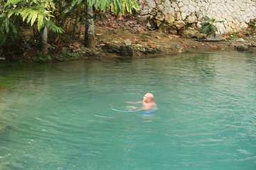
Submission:
[[[138,10],[136,0],[5,0],[0,1],[0,47],[1,45],[19,45],[23,41],[21,29],[33,28],[33,35],[36,40],[40,38],[43,28],[46,26],[50,32],[49,44],[55,47],[63,47],[80,33],[82,24],[86,23],[86,6],[93,6],[98,14],[102,11],[113,13],[132,13]],[[99,12],[100,11],[100,12]],[[95,18],[104,18],[101,15],[93,15]],[[58,27],[60,26],[60,27]],[[32,30],[32,29],[31,29]],[[53,33],[64,33],[56,35]],[[31,31],[24,31],[31,34]],[[68,38],[68,36],[70,38]],[[20,39],[21,40],[21,39]],[[11,43],[9,43],[11,42]],[[58,44],[58,45],[57,45]],[[10,52],[18,48],[12,46]],[[60,50],[56,50],[60,52]],[[1,51],[2,52],[2,51]],[[90,52],[89,52],[90,53]],[[95,55],[95,54],[89,54]],[[60,60],[65,57],[77,57],[77,53],[63,54]],[[38,53],[35,57],[37,62],[48,62],[55,60],[55,57]],[[58,59],[57,59],[58,60]]]

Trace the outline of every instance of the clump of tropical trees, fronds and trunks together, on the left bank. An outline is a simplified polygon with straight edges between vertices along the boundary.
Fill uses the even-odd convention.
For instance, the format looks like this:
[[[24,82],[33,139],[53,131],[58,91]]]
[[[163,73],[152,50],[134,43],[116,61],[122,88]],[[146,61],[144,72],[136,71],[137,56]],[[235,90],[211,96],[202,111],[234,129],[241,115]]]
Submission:
[[[66,35],[73,37],[85,25],[84,43],[90,49],[95,47],[94,21],[95,11],[113,13],[132,13],[137,10],[136,0],[5,0],[0,1],[0,45],[7,41],[18,44],[21,29],[33,28],[35,38],[41,35],[43,54],[48,53],[48,41],[60,42]],[[17,22],[18,21],[18,22]],[[25,23],[25,24],[24,24]],[[48,30],[55,34],[48,40]],[[36,34],[35,34],[36,33]],[[54,39],[53,39],[54,38]],[[64,38],[64,39],[62,39]],[[65,41],[67,42],[67,41]],[[14,48],[15,49],[15,48]],[[50,48],[49,48],[50,50]],[[1,52],[1,51],[0,51]]]

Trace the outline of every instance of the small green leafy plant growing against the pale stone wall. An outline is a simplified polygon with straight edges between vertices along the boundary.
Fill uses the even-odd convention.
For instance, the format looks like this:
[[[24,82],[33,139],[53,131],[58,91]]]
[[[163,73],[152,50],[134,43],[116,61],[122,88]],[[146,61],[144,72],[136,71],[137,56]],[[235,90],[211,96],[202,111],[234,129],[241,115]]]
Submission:
[[[214,37],[218,28],[214,25],[215,23],[223,23],[224,21],[216,21],[215,18],[209,18],[208,16],[203,17],[204,22],[200,23],[200,33],[206,34],[206,36]]]

